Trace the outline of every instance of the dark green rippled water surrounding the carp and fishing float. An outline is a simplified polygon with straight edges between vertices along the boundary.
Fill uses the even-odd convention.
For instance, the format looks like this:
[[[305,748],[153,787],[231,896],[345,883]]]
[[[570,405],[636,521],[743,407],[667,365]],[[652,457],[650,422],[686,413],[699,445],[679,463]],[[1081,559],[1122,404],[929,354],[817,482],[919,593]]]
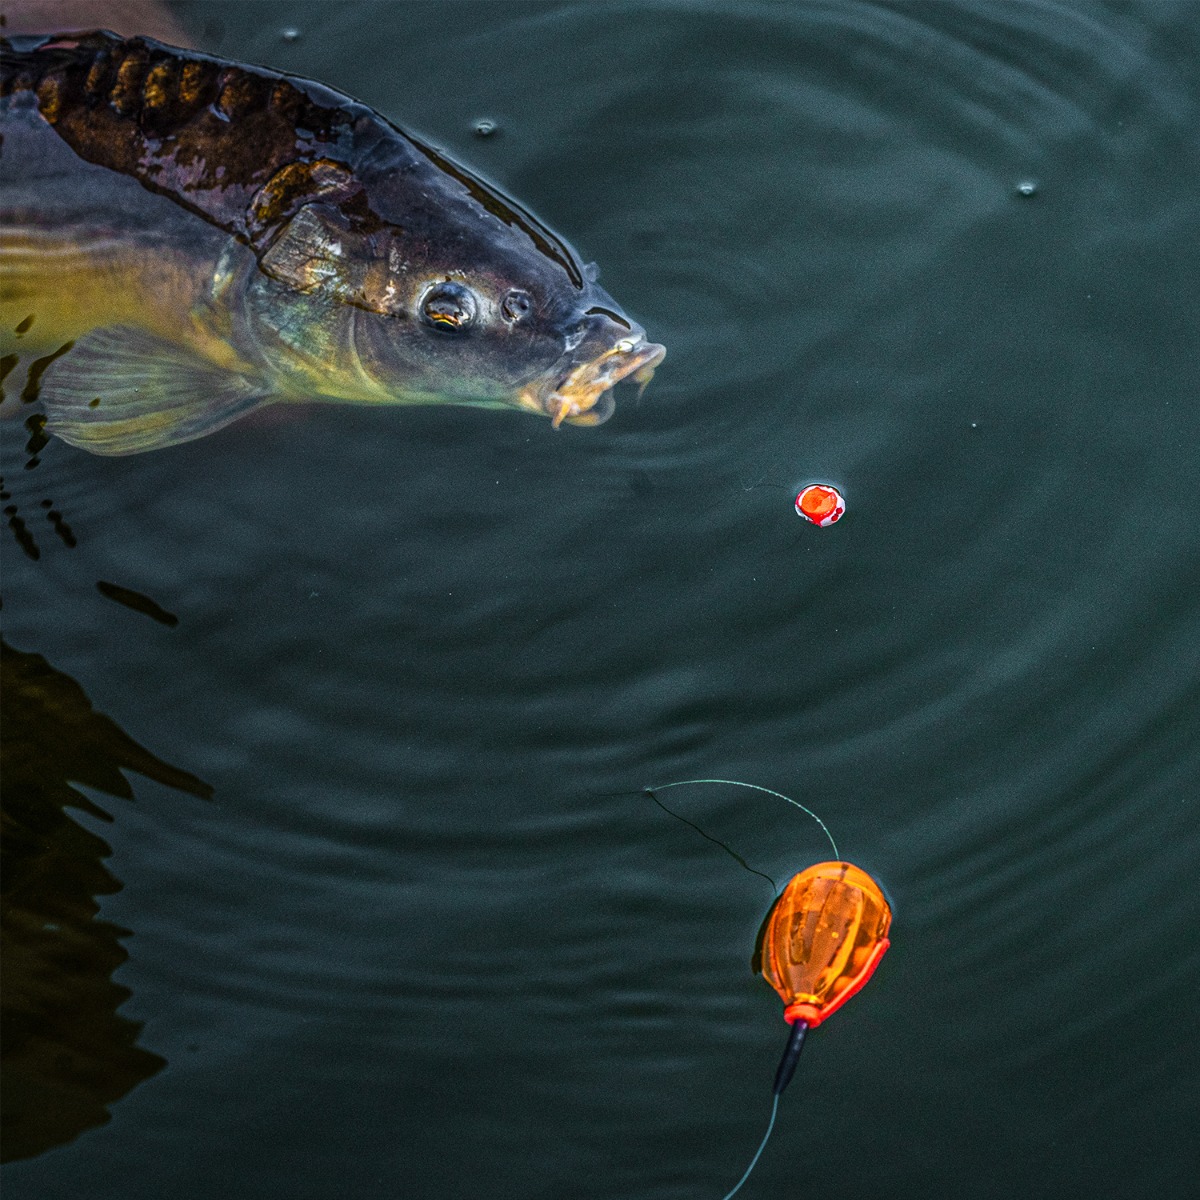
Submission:
[[[769,888],[638,792],[696,775],[895,908],[743,1195],[1194,1195],[1196,7],[181,11],[490,174],[668,358],[599,430],[6,433],[5,636],[115,818],[30,834],[6,1196],[719,1200],[785,1026]]]

